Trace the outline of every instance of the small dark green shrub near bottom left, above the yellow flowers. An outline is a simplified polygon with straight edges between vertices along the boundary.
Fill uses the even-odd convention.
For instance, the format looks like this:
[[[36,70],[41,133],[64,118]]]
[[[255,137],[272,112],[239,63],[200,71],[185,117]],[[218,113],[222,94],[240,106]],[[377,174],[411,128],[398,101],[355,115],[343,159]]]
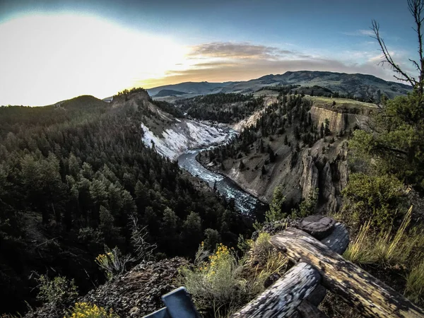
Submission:
[[[40,290],[37,300],[42,302],[64,302],[78,295],[75,282],[63,276],[57,276],[51,280],[48,276],[41,275],[37,278],[37,283]]]

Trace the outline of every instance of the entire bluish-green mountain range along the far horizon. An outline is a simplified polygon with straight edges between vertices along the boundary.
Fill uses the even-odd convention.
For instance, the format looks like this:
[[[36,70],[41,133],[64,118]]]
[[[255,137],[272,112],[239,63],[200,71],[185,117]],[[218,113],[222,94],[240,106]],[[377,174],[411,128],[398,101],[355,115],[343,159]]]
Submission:
[[[269,86],[320,86],[331,93],[351,95],[355,98],[378,98],[379,95],[387,95],[394,98],[397,95],[406,95],[411,86],[384,81],[372,75],[335,73],[327,71],[288,71],[284,74],[270,74],[250,81],[208,83],[187,82],[175,85],[151,88],[148,93],[156,95],[160,90],[172,89],[192,95],[206,95],[212,93],[252,93]],[[165,96],[165,95],[163,95]]]

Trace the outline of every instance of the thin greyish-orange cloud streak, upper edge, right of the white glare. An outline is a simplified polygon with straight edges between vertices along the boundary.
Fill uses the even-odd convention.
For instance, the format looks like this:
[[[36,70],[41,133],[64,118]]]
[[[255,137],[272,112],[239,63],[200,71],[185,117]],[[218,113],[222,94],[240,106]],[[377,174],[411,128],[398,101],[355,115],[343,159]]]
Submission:
[[[290,49],[280,49],[249,42],[212,42],[192,47],[189,57],[213,57],[230,59],[281,59],[282,57],[308,57]]]

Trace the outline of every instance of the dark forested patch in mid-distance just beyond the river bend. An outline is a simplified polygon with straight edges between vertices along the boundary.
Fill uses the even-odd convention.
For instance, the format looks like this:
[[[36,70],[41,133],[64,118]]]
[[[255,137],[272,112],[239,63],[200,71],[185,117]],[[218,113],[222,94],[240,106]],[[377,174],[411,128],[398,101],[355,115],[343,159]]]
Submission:
[[[252,94],[218,93],[179,100],[177,107],[189,117],[226,124],[238,122],[263,107],[264,98]]]

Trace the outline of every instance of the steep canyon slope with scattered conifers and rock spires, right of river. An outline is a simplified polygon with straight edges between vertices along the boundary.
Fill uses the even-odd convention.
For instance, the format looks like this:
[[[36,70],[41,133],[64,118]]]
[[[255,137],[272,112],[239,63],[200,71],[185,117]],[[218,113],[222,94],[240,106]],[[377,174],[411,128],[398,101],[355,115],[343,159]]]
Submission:
[[[316,197],[316,188],[322,190],[321,203],[331,202],[331,208],[327,208],[337,209],[336,197],[329,197],[325,188],[333,187],[331,173],[340,174],[337,170],[343,161],[341,146],[349,132],[346,129],[353,125],[331,131],[332,126],[344,121],[343,117],[338,119],[337,112],[329,111],[335,117],[331,122],[326,115],[313,120],[312,103],[301,95],[281,94],[273,98],[256,121],[246,124],[231,143],[201,153],[201,162],[269,203],[274,189],[279,187],[285,196],[285,215],[302,199]],[[313,110],[322,111],[316,107]]]

